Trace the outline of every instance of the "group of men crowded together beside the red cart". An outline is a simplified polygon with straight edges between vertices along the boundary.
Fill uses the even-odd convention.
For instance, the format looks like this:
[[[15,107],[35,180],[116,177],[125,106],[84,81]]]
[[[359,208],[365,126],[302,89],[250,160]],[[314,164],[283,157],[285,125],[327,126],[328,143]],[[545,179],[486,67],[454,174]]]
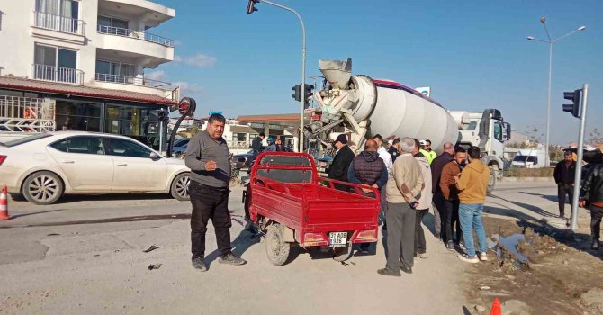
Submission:
[[[444,145],[437,157],[431,141],[412,138],[396,139],[390,148],[383,146],[383,137],[367,139],[365,150],[355,156],[342,134],[335,140],[338,149],[329,168],[329,178],[366,186],[362,193],[381,192],[383,231],[387,231],[387,264],[378,270],[380,275],[411,274],[414,257],[427,258],[425,233],[421,222],[429,209],[437,209],[438,231],[443,234],[446,247],[455,250],[461,239],[466,252],[459,258],[466,262],[487,260],[486,235],[482,224],[482,210],[490,169],[482,164],[477,147],[467,152],[455,150],[452,143]],[[335,185],[347,190],[343,184]],[[453,236],[456,226],[456,238]],[[478,236],[480,255],[473,245],[473,229]],[[439,232],[438,232],[439,233]],[[368,244],[360,252],[368,252]]]

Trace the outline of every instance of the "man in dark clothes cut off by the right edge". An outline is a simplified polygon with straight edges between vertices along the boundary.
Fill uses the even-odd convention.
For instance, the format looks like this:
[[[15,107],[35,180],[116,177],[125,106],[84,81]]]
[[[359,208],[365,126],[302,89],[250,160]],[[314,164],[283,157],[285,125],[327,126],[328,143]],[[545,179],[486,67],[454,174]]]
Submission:
[[[599,161],[590,170],[582,181],[580,206],[584,207],[590,203],[590,235],[592,244],[590,248],[599,250],[599,238],[601,234],[601,218],[603,218],[603,161],[599,155]]]

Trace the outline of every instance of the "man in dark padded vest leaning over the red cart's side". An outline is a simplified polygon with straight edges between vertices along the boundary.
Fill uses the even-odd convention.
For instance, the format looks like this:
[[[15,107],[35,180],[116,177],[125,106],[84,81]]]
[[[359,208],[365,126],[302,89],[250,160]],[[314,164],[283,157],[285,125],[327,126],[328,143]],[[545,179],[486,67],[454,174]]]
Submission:
[[[367,186],[361,193],[365,196],[376,198],[374,191],[368,187],[381,189],[387,183],[387,167],[383,159],[377,153],[377,142],[368,139],[365,142],[365,150],[352,159],[347,168],[347,180],[350,183]],[[368,253],[369,243],[360,244],[360,251]]]

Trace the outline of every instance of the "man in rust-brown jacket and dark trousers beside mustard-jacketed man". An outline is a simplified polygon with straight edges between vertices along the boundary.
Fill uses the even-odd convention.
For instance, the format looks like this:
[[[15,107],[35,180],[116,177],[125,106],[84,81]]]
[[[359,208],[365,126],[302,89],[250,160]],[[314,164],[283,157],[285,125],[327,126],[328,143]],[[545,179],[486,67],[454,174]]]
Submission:
[[[458,218],[459,199],[458,189],[455,185],[455,176],[461,174],[464,160],[467,158],[467,152],[464,148],[455,149],[455,159],[448,162],[442,169],[442,176],[440,177],[440,189],[444,195],[446,202],[446,216],[442,218],[444,220],[444,243],[446,249],[455,251],[455,245],[460,246],[461,243],[461,222]],[[454,236],[454,229],[456,223],[456,239]]]

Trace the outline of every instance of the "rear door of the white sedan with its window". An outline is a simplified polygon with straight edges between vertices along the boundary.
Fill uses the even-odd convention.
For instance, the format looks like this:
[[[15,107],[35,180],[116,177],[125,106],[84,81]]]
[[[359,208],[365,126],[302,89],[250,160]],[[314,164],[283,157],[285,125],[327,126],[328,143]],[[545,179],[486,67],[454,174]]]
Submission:
[[[48,148],[67,182],[76,192],[111,192],[113,159],[106,155],[103,139],[74,136],[53,142]]]

